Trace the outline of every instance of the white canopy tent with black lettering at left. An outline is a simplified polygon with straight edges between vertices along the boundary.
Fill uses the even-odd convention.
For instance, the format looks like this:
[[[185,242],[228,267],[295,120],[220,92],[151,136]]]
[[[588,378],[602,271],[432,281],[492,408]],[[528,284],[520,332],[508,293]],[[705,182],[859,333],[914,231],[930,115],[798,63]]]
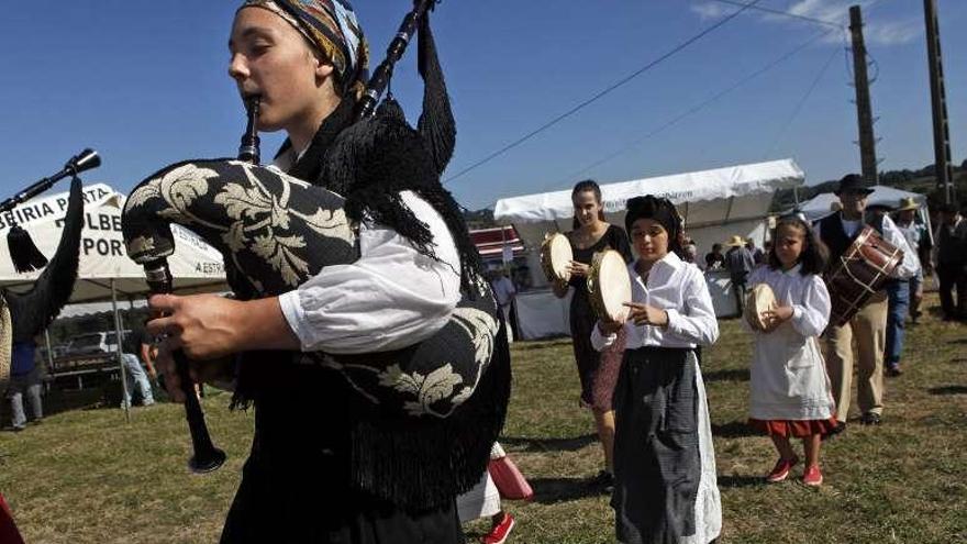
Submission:
[[[11,219],[23,226],[48,258],[60,242],[67,192],[33,199],[0,217],[0,236],[7,235]],[[80,241],[80,265],[70,302],[111,300],[116,295],[131,300],[147,293],[144,269],[127,258],[121,234],[124,195],[97,184],[84,188],[85,219]],[[222,255],[197,235],[173,225],[175,254],[168,258],[178,292],[224,291]],[[13,269],[5,243],[0,243],[0,286],[29,288],[40,271],[20,274]]]

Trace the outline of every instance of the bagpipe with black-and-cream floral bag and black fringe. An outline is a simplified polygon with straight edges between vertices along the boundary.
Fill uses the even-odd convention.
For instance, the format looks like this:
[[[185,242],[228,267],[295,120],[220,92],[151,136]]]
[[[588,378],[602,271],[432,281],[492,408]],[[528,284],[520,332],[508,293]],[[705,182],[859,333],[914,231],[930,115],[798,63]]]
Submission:
[[[354,104],[355,122],[344,132],[364,134],[359,140],[366,144],[360,145],[368,147],[334,145],[336,149],[326,153],[326,160],[338,164],[343,171],[363,177],[373,174],[371,169],[377,166],[371,159],[382,156],[377,152],[386,136],[374,131],[389,124],[394,127],[393,134],[418,141],[408,147],[414,149],[412,164],[435,165],[432,174],[438,184],[438,176],[453,153],[455,131],[445,90],[438,92],[442,75],[427,21],[427,11],[433,4],[433,0],[414,2],[387,49],[386,60],[375,70]],[[438,85],[437,92],[424,95],[424,112],[419,130],[414,130],[398,116],[388,121],[381,111],[384,107],[375,104],[418,26],[421,74],[427,86],[431,80],[438,80]],[[431,53],[429,58],[424,52]],[[138,184],[125,203],[122,230],[127,254],[144,266],[155,292],[169,292],[171,288],[166,259],[175,251],[173,223],[191,230],[222,253],[229,284],[243,300],[291,291],[326,266],[352,264],[359,258],[358,224],[347,213],[349,202],[345,195],[326,188],[324,182],[315,185],[314,180],[299,179],[278,168],[257,164],[260,156],[258,98],[246,98],[247,123],[237,158],[189,160],[168,166]],[[467,475],[454,476],[452,481],[434,481],[441,479],[438,474],[423,474],[419,478],[427,481],[423,486],[427,489],[469,489],[486,467],[490,444],[503,424],[509,375],[507,384],[501,380],[489,389],[498,390],[496,399],[481,398],[475,392],[488,381],[494,354],[501,352],[500,356],[505,358],[509,355],[502,353],[507,345],[504,341],[501,346],[499,338],[504,333],[488,282],[477,276],[467,291],[471,292],[464,292],[442,330],[404,349],[366,355],[291,354],[293,364],[315,365],[337,373],[355,395],[360,410],[375,414],[369,426],[376,431],[370,436],[373,442],[381,441],[381,444],[373,444],[371,458],[354,452],[354,462],[367,464],[363,470],[376,474],[357,480],[367,480],[360,485],[377,495],[403,495],[419,504],[421,493],[432,492],[420,489],[421,486],[392,481],[391,474],[381,471],[385,463],[376,457],[386,455],[389,449],[378,452],[380,445],[391,448],[397,442],[414,440],[393,434],[393,422],[403,422],[401,429],[434,429],[431,432],[436,434],[420,447],[427,451],[434,447],[448,456],[444,465],[479,468],[475,474],[469,470]],[[186,388],[186,410],[194,445],[190,466],[196,471],[212,470],[224,460],[224,454],[214,448],[208,437],[201,409],[187,379],[188,362],[184,354],[176,353],[176,364]],[[240,380],[244,378],[244,366],[242,371]],[[487,422],[477,429],[455,430],[452,422],[462,418],[485,418]],[[390,435],[394,437],[387,438]],[[434,443],[437,438],[454,440],[454,436],[462,441],[459,447],[447,448],[445,443]],[[359,442],[357,438],[353,438],[354,446]],[[457,459],[457,456],[470,460]],[[421,459],[410,458],[407,463],[420,470]]]

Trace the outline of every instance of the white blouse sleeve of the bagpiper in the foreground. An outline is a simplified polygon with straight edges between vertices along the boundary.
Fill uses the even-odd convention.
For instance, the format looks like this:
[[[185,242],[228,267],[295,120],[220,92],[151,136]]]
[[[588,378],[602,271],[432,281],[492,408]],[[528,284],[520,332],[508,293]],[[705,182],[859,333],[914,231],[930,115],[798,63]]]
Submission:
[[[443,218],[410,191],[400,193],[433,234],[440,260],[381,225],[359,229],[359,259],[329,266],[279,297],[302,351],[398,349],[441,330],[460,300],[459,254]]]

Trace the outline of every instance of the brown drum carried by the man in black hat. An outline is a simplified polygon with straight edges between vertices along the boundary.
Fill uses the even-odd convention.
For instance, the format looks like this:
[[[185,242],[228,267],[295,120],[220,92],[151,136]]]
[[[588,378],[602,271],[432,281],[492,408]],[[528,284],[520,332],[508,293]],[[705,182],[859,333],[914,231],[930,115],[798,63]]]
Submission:
[[[903,252],[866,225],[824,278],[833,309],[830,323],[842,326],[890,279]]]

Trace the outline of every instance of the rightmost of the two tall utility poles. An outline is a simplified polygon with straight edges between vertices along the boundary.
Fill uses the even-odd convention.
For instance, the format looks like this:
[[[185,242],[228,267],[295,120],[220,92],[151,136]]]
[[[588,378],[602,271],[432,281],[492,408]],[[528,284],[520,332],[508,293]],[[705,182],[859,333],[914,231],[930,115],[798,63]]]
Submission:
[[[930,60],[930,101],[933,106],[933,153],[937,188],[944,202],[954,201],[954,167],[951,164],[951,130],[947,125],[947,93],[944,90],[944,64],[941,55],[941,30],[936,0],[923,0],[926,20],[926,55]]]

